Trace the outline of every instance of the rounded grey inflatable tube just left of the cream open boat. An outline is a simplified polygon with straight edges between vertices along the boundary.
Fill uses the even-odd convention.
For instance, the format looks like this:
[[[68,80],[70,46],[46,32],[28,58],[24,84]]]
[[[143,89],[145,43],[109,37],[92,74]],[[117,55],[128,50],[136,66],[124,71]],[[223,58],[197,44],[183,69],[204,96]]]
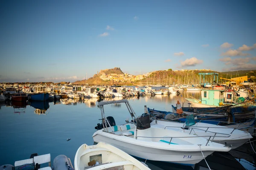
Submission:
[[[67,156],[59,155],[53,160],[52,170],[74,170],[74,168]]]

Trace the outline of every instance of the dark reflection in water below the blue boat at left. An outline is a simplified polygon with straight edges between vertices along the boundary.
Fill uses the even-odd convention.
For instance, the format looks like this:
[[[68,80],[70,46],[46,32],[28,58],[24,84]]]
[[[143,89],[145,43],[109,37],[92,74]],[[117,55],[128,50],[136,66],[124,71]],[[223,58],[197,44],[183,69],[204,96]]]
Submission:
[[[35,114],[46,115],[49,113],[49,101],[30,101],[29,105],[35,108]]]

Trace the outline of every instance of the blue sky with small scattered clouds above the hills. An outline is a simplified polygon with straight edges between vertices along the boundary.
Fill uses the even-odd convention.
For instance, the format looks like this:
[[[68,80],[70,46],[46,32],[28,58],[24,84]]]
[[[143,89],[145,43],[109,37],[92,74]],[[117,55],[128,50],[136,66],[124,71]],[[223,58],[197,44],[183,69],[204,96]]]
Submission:
[[[1,0],[0,82],[256,69],[256,1]]]

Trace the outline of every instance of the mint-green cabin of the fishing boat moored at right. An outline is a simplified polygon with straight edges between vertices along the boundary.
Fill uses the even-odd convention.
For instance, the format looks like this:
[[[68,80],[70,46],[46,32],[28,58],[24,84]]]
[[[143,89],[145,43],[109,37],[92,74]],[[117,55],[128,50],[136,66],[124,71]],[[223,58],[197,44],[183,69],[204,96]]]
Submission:
[[[201,90],[202,104],[219,106],[221,102],[224,102],[224,90]]]

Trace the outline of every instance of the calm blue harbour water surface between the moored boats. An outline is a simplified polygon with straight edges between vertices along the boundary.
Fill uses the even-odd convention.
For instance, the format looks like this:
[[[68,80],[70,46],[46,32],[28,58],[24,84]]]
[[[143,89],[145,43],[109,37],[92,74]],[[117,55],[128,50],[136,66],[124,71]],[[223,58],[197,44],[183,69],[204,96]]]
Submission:
[[[183,91],[180,96],[156,95],[129,98],[132,108],[137,116],[144,113],[144,105],[157,110],[172,111],[172,105],[177,99],[184,107],[188,104],[185,97],[200,98],[199,92]],[[120,98],[103,99],[103,101],[119,100]],[[73,99],[61,99],[57,102],[32,102],[26,108],[18,108],[17,103],[1,103],[0,108],[0,166],[12,164],[21,159],[28,159],[30,154],[51,154],[53,159],[61,154],[69,157],[73,163],[76,150],[81,144],[93,144],[92,135],[96,131],[95,126],[100,123],[100,110],[96,107],[96,99],[85,99],[83,102]],[[38,114],[46,108],[45,113]],[[116,124],[124,124],[130,114],[125,105],[106,105],[105,113],[113,116]],[[131,118],[130,118],[131,119]],[[67,142],[67,139],[71,138]],[[244,147],[244,148],[243,148]],[[255,157],[253,158],[250,144],[242,146],[241,151],[230,153],[215,152],[207,157],[211,169],[255,169]],[[233,155],[233,156],[232,156]],[[236,158],[235,158],[235,157]],[[239,161],[240,159],[240,161]],[[245,160],[246,159],[246,160]],[[145,160],[140,160],[145,161]],[[152,170],[203,170],[208,169],[204,160],[195,167],[186,167],[177,164],[146,161]]]

